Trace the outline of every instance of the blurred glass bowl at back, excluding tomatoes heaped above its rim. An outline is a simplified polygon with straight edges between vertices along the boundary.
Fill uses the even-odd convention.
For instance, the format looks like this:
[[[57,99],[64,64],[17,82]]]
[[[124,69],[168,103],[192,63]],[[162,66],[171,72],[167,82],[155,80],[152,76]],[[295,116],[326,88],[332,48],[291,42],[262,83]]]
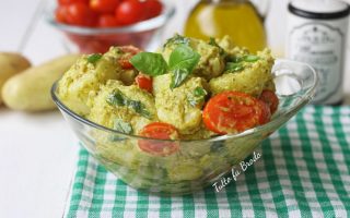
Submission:
[[[153,50],[161,41],[165,24],[175,14],[175,7],[162,1],[163,11],[159,16],[139,23],[110,28],[81,27],[58,23],[55,20],[56,5],[48,5],[46,21],[63,34],[63,45],[69,52],[104,53],[110,46],[133,45]]]

